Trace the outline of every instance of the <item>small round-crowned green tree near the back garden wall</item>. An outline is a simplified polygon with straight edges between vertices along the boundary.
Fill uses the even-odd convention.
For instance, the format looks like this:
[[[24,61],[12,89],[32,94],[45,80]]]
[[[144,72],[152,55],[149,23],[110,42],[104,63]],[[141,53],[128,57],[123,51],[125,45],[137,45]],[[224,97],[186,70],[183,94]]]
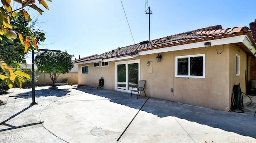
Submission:
[[[62,73],[68,73],[74,67],[72,63],[72,57],[74,55],[69,55],[67,51],[54,53],[38,53],[36,55],[36,66],[39,71],[49,73],[49,76],[52,80],[52,87],[55,87],[55,82],[58,76]]]

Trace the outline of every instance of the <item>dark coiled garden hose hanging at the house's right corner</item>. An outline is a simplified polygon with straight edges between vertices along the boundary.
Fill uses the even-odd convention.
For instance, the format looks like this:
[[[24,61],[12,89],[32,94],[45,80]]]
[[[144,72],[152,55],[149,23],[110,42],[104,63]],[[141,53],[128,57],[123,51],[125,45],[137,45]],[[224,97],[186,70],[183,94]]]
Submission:
[[[235,111],[236,109],[238,109],[240,110],[240,112],[238,113],[244,113],[244,110],[243,110],[244,106],[249,106],[250,104],[252,104],[252,99],[249,96],[248,97],[250,99],[250,103],[248,105],[243,104],[243,94],[248,96],[247,94],[241,91],[240,84],[233,86],[233,92],[231,96],[231,107],[230,107],[232,111],[238,112],[238,111]]]

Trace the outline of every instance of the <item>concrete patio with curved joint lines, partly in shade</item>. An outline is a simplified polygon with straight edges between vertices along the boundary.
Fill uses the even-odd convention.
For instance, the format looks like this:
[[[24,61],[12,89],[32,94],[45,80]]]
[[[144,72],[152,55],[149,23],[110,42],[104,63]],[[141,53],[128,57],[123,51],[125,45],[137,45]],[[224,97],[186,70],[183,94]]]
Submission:
[[[3,143],[255,143],[256,96],[244,113],[97,90],[12,88],[0,95]],[[247,104],[248,97],[244,98]]]

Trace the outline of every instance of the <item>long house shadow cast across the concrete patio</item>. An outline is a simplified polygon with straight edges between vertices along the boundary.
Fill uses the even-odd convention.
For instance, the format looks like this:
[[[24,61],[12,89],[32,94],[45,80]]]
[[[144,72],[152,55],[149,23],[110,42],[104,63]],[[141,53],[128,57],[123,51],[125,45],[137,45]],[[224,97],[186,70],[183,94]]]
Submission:
[[[96,88],[86,86],[74,89],[108,98],[110,99],[110,102],[145,111],[147,113],[154,114],[159,118],[168,116],[177,117],[202,125],[208,125],[210,127],[256,138],[256,132],[254,131],[256,129],[256,118],[253,118],[256,110],[256,96],[250,96],[252,98],[252,104],[244,107],[245,113],[236,113],[191,106],[188,104],[156,98],[148,99],[144,96],[140,96],[137,100],[136,96],[130,98],[130,94],[128,93],[111,90],[97,90]],[[245,99],[244,104],[248,104],[248,99]]]

